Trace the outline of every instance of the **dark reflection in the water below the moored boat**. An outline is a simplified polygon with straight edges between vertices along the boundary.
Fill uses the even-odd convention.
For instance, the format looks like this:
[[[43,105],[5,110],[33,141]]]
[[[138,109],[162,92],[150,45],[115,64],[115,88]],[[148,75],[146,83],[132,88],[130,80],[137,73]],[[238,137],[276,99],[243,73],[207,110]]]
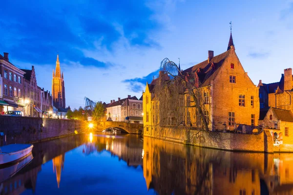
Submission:
[[[6,166],[6,167],[4,167],[2,169],[0,168],[0,183],[5,181],[8,178],[14,176],[25,165],[27,165],[30,161],[32,161],[32,159],[33,159],[33,155],[32,155],[32,153],[30,153],[28,156],[26,156],[22,160],[16,162],[15,164],[11,163],[10,166]]]

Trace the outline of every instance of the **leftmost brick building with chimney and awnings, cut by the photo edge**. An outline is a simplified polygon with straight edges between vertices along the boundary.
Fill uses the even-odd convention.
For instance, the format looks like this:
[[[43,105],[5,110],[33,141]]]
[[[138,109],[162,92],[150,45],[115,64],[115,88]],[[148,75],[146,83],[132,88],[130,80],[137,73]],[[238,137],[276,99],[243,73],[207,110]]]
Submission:
[[[0,91],[2,97],[0,99],[0,114],[6,111],[17,110],[23,112],[23,75],[24,71],[13,65],[8,58],[8,53],[4,56],[0,55],[0,75],[2,84]]]

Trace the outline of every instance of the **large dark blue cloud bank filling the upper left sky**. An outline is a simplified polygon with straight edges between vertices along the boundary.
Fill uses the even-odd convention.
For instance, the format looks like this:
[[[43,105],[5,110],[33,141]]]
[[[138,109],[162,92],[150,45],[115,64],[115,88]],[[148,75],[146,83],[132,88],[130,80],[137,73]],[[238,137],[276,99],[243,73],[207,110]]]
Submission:
[[[121,37],[130,47],[159,46],[149,32],[159,30],[161,24],[151,19],[153,11],[141,1],[50,0],[35,2],[33,7],[17,1],[2,3],[5,9],[0,19],[0,27],[5,29],[0,31],[0,48],[10,53],[11,59],[54,64],[59,51],[61,62],[106,68],[111,63],[105,63],[99,56],[89,58],[92,56],[83,51],[95,50],[98,41],[100,47],[112,52]]]

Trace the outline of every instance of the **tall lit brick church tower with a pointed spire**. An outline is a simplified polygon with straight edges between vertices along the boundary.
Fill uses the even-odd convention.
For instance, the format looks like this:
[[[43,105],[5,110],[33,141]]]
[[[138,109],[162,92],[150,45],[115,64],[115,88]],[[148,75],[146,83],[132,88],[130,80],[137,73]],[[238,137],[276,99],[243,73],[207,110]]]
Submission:
[[[65,107],[65,87],[64,87],[63,73],[61,74],[61,70],[60,70],[59,55],[57,55],[55,73],[53,70],[52,96],[53,96],[53,105],[56,108],[63,108],[63,109],[66,108]]]

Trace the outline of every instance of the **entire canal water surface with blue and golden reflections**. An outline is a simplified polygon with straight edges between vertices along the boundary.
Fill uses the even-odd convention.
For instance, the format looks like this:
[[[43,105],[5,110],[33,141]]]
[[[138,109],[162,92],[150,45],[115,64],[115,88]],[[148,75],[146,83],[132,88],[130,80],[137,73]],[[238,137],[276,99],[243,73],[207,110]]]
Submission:
[[[293,154],[81,134],[36,143],[32,156],[0,169],[0,195],[289,195],[292,164]]]

